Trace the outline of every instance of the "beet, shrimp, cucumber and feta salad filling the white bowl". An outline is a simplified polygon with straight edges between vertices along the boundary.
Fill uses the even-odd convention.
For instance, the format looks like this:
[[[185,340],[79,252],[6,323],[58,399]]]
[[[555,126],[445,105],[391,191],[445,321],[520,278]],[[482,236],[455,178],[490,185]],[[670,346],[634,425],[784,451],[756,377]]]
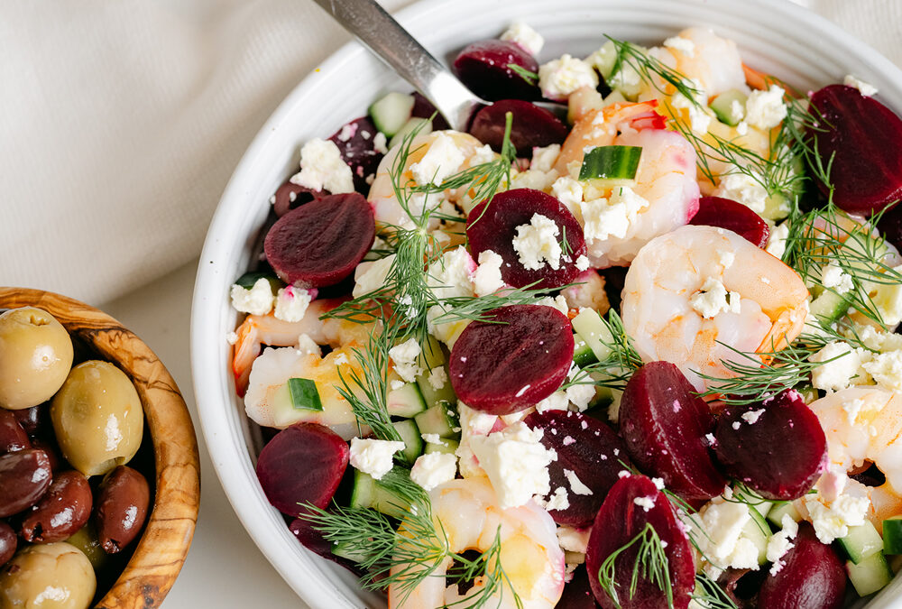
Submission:
[[[902,554],[902,121],[689,28],[524,23],[300,150],[235,389],[301,543],[391,607],[840,607]],[[566,120],[531,102],[566,107]]]

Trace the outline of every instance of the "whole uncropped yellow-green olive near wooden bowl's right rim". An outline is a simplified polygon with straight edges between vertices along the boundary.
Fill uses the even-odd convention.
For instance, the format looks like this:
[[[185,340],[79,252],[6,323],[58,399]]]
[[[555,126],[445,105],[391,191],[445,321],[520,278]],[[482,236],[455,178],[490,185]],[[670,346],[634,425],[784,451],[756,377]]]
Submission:
[[[128,463],[144,428],[138,392],[113,364],[89,360],[72,368],[51,403],[63,457],[84,475]]]

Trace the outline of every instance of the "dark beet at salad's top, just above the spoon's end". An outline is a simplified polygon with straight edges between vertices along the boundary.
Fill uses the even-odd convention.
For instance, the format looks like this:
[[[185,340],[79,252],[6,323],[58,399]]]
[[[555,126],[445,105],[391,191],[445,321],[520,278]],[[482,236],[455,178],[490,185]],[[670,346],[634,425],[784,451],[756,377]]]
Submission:
[[[488,101],[542,97],[537,85],[508,68],[511,63],[538,72],[536,58],[513,42],[498,40],[467,45],[457,55],[452,69],[467,88]]]

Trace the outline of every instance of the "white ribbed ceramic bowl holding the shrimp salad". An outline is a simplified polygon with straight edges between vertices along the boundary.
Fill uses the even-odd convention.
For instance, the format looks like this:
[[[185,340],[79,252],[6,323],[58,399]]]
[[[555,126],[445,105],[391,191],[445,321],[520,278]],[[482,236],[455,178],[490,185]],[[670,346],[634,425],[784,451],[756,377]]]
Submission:
[[[499,35],[514,20],[529,23],[548,43],[540,60],[587,55],[603,33],[659,43],[690,25],[710,25],[736,41],[751,66],[805,90],[854,74],[902,110],[902,71],[823,18],[781,0],[426,0],[400,22],[439,58],[469,42]],[[282,102],[244,154],[210,225],[201,256],[191,319],[191,360],[201,429],[238,517],[273,567],[308,604],[322,609],[384,606],[354,577],[301,547],[262,494],[253,467],[259,434],[235,397],[226,333],[236,324],[229,286],[250,266],[272,192],[297,171],[299,146],[326,137],[364,115],[380,94],[410,87],[356,42],[345,45]],[[240,559],[229,557],[229,559]],[[868,606],[902,606],[899,577]]]

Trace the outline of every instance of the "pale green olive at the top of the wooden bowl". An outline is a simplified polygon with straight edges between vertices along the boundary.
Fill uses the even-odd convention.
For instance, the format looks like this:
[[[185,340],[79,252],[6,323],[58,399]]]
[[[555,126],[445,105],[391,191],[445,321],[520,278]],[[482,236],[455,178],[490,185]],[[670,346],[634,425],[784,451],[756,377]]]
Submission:
[[[21,411],[48,401],[72,367],[72,339],[34,307],[0,315],[0,408]]]

